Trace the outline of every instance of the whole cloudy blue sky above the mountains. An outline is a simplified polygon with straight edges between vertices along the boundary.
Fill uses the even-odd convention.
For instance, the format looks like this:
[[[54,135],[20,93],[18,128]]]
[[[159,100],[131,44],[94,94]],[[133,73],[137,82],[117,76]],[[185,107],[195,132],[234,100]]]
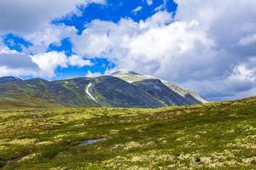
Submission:
[[[211,101],[256,95],[255,0],[0,1],[0,77],[129,69]]]

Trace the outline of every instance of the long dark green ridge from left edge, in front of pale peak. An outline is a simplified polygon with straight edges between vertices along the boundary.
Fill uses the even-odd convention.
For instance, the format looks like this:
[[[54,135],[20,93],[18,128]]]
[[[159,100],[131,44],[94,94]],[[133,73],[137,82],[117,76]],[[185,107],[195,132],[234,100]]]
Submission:
[[[0,101],[5,103],[15,101],[23,105],[142,108],[164,106],[142,89],[117,77],[80,77],[54,82],[38,78],[29,80],[4,78],[3,80],[9,80],[9,82],[0,82]],[[93,99],[90,95],[94,96]]]

